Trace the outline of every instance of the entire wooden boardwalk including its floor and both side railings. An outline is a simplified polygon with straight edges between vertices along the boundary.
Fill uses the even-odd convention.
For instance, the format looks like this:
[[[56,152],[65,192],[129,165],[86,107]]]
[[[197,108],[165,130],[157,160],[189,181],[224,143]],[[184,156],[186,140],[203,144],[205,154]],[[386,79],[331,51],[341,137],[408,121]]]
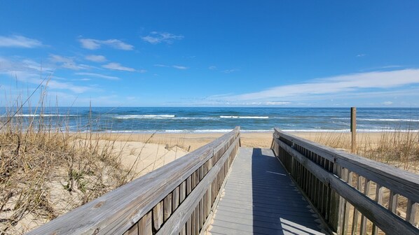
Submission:
[[[236,127],[29,234],[419,234],[415,173],[277,128],[272,150],[239,146]]]

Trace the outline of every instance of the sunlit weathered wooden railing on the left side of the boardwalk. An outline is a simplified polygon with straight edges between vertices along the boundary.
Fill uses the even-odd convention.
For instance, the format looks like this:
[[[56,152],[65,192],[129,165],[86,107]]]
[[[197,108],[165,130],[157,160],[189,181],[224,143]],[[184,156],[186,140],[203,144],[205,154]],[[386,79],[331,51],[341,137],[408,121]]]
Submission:
[[[199,234],[237,154],[240,127],[29,234]]]

